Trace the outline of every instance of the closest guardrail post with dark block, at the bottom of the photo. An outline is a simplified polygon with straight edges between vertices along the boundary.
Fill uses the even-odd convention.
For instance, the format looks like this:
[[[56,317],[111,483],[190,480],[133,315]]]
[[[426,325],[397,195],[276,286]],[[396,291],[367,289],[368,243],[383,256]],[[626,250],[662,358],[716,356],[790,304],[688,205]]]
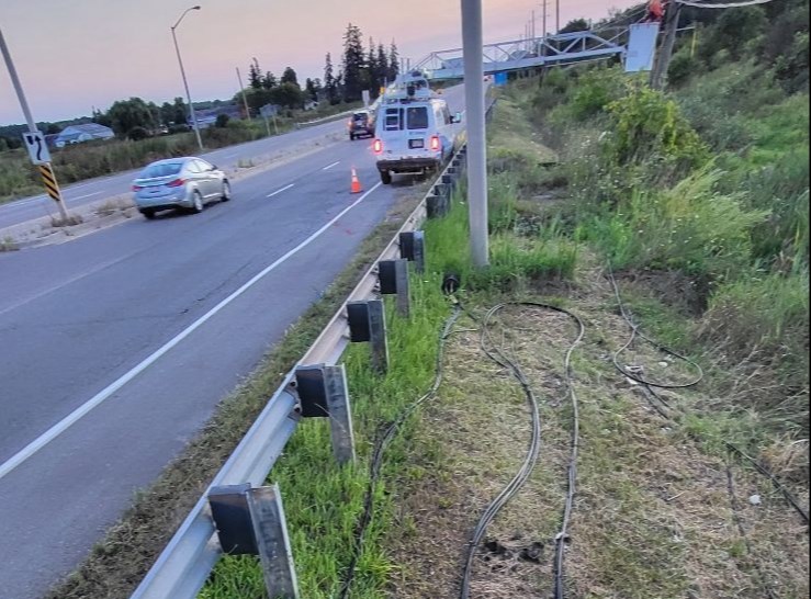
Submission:
[[[224,553],[259,555],[268,596],[299,599],[299,581],[279,485],[214,487],[209,493],[212,517]]]

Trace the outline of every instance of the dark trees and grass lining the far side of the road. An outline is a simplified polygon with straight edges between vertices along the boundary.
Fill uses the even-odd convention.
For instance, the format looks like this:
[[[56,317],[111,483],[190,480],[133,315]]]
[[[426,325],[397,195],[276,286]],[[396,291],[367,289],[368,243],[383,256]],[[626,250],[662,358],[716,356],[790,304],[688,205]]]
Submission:
[[[386,47],[369,39],[364,47],[363,33],[348,24],[343,36],[340,61],[334,64],[329,53],[324,65],[324,80],[306,78],[300,83],[292,67],[280,77],[264,71],[255,58],[248,67],[248,87],[230,100],[195,102],[201,111],[218,112],[215,123],[201,129],[203,145],[213,150],[283,134],[301,124],[337,115],[362,105],[363,90],[371,99],[399,74],[401,59],[394,41]],[[245,104],[250,118],[245,116]],[[260,117],[264,106],[278,110],[275,120]],[[308,109],[308,110],[305,110]],[[89,122],[111,127],[115,139],[85,142],[52,149],[57,180],[66,185],[94,177],[140,168],[153,160],[196,155],[200,148],[182,98],[173,103],[129,98],[114,102],[106,111],[94,111],[91,117],[61,123],[38,123],[41,131],[58,134],[63,127]],[[37,194],[42,191],[40,176],[22,148],[24,125],[0,127],[0,204]]]

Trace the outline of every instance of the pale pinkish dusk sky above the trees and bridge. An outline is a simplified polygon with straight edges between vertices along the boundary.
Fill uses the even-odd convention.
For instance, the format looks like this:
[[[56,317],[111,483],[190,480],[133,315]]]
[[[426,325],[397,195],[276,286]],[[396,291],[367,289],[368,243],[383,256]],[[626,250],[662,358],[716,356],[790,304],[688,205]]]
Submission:
[[[386,47],[394,38],[412,63],[432,50],[461,46],[459,0],[198,0],[178,27],[195,101],[228,99],[252,57],[278,76],[286,66],[322,78],[330,52],[339,68],[347,24]],[[0,30],[37,121],[89,115],[137,95],[160,104],[184,95],[170,26],[194,0],[2,0]],[[640,0],[561,0],[561,25],[602,19]],[[541,29],[541,3],[483,0],[485,43],[515,39],[531,11]],[[549,0],[554,29],[554,0]],[[368,42],[364,42],[368,45]],[[24,121],[0,60],[0,124]]]

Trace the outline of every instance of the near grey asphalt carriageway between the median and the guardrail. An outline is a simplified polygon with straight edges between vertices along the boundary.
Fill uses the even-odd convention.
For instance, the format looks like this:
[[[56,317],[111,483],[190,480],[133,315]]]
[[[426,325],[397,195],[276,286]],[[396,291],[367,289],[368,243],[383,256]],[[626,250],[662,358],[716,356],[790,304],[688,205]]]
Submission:
[[[345,140],[202,214],[0,253],[0,598],[83,558],[409,185],[379,185],[369,144]]]

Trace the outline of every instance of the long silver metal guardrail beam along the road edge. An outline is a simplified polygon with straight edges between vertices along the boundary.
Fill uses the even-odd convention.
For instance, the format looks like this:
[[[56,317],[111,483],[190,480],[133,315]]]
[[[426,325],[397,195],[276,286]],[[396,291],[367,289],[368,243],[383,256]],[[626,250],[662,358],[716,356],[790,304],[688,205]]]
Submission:
[[[442,181],[452,165],[453,160],[449,161],[437,181]],[[209,507],[209,491],[217,486],[243,483],[259,486],[264,482],[301,418],[296,410],[296,395],[291,391],[295,370],[302,365],[333,365],[338,362],[349,343],[347,303],[373,297],[378,283],[378,261],[398,258],[399,234],[413,231],[419,227],[428,214],[428,199],[433,195],[432,191],[429,191],[419,202],[315,342],[288,373],[254,426],[250,427],[243,441],[192,508],[131,599],[194,599],[198,596],[222,555]]]

